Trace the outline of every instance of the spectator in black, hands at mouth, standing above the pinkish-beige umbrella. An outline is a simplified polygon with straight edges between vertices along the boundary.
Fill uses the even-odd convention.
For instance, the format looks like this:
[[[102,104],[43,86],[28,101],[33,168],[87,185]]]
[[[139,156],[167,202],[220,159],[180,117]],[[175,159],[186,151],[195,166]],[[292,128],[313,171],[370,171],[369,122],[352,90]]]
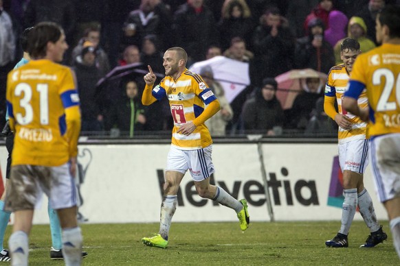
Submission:
[[[260,18],[253,34],[254,71],[252,84],[261,86],[262,77],[276,77],[293,68],[295,40],[278,8],[270,8]]]

